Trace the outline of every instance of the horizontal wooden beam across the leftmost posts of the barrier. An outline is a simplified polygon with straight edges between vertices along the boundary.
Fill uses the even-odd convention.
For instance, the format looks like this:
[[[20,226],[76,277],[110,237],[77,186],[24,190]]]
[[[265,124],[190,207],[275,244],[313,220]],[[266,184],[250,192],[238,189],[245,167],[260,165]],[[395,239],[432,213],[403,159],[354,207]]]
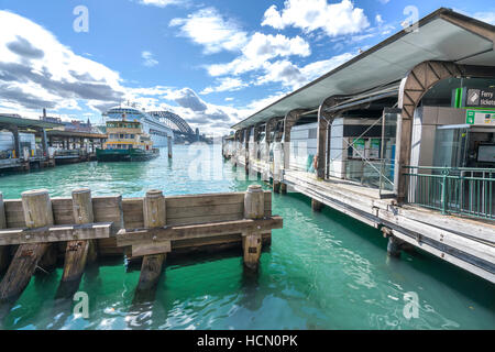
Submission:
[[[77,226],[59,224],[36,229],[0,230],[0,245],[105,239],[110,237],[111,227],[112,222],[97,222]]]

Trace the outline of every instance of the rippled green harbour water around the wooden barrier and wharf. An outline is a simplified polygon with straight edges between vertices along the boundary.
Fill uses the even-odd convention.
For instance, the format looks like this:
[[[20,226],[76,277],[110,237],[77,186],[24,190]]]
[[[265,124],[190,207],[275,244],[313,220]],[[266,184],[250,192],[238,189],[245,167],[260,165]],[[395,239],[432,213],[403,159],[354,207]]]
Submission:
[[[174,146],[145,163],[82,163],[0,176],[6,199],[47,188],[52,197],[89,187],[94,196],[141,197],[245,190],[243,170],[223,163],[219,147]],[[191,177],[191,161],[215,174]],[[196,175],[196,174],[195,174]],[[264,185],[268,189],[267,185]],[[243,271],[240,251],[167,262],[151,301],[133,302],[139,267],[123,257],[100,260],[79,292],[89,318],[73,300],[55,299],[63,268],[37,272],[20,299],[0,309],[1,329],[495,329],[495,285],[422,252],[389,258],[382,233],[302,195],[273,195],[284,218],[262,254],[257,275]],[[417,318],[403,314],[406,293],[419,299]]]

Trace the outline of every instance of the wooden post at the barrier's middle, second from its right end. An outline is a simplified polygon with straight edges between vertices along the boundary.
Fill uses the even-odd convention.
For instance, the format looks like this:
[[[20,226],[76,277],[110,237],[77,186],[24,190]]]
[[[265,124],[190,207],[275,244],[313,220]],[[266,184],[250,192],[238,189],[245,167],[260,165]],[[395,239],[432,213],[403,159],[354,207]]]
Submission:
[[[165,197],[161,190],[148,190],[143,201],[144,227],[162,228],[166,224]],[[145,255],[141,264],[138,292],[152,289],[156,286],[162,274],[166,253]]]

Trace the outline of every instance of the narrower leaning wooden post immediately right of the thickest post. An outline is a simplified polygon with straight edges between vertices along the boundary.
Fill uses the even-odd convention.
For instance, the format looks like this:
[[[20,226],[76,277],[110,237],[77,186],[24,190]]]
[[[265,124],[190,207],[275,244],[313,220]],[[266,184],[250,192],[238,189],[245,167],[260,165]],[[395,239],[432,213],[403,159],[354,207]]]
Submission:
[[[91,190],[88,188],[73,191],[74,223],[95,222],[92,213]],[[79,282],[86,263],[96,260],[95,241],[68,241],[65,250],[65,264],[62,282]]]

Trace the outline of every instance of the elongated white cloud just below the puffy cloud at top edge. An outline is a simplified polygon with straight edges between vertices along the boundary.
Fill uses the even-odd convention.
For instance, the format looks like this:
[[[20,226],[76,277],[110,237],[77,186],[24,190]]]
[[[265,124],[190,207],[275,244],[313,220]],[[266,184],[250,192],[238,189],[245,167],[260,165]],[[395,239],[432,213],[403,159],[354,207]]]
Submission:
[[[292,55],[307,57],[310,54],[309,44],[300,36],[288,38],[282,34],[267,35],[256,32],[242,48],[241,56],[227,64],[210,65],[207,69],[211,76],[240,75],[260,69],[266,62],[275,57]]]

